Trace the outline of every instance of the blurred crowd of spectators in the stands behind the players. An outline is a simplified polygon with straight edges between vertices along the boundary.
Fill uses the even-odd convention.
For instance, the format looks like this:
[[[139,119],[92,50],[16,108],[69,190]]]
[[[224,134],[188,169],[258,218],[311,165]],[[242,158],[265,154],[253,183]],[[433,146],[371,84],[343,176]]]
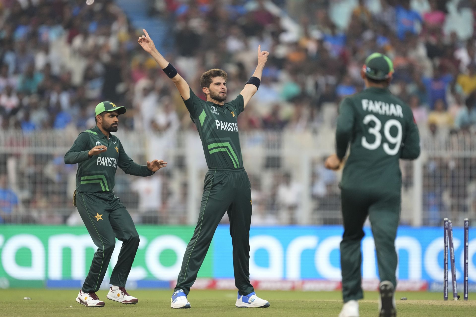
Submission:
[[[159,133],[164,139],[194,131],[175,87],[137,44],[141,26],[132,25],[114,1],[90,6],[85,2],[0,1],[1,128],[20,129],[25,135],[49,129],[81,131],[94,125],[94,107],[110,100],[128,107],[120,117],[121,130]],[[455,135],[476,138],[475,0],[148,0],[148,5],[150,19],[160,19],[168,28],[161,38],[153,38],[159,50],[199,97],[204,97],[199,86],[204,71],[225,69],[228,96],[233,98],[256,67],[258,44],[270,52],[259,90],[238,118],[242,132],[330,134],[339,101],[363,89],[360,69],[365,58],[382,52],[394,61],[390,89],[412,108],[423,137],[440,143],[451,142]],[[43,174],[47,165],[74,173],[74,168],[61,166],[58,155],[32,157],[31,163],[43,162],[37,168]],[[2,185],[8,183],[4,156],[2,212],[19,201],[18,193]],[[322,171],[320,158],[316,159],[319,163],[311,176],[313,211],[338,211],[337,176]],[[285,164],[267,164],[277,169],[270,176],[276,182],[271,182],[275,184],[271,192],[261,189],[269,192],[269,198],[266,205],[261,200],[260,217],[296,222],[304,189]],[[435,221],[444,212],[474,209],[476,190],[474,202],[470,197],[475,167],[472,159],[425,160],[424,177],[429,181],[424,182],[423,203],[425,210],[434,211]],[[443,174],[454,181],[437,181]],[[173,200],[179,204],[186,197],[183,178],[174,194],[167,193],[171,190],[162,186],[167,177],[177,175],[164,176],[154,188],[165,193],[152,192],[155,200],[146,201],[163,199],[153,207],[138,207],[153,210],[155,218],[148,221],[167,222],[158,219],[156,210],[166,214]],[[42,182],[47,181],[38,181],[39,187]],[[146,181],[125,188],[147,187],[140,182]],[[266,180],[255,177],[256,189],[261,183]],[[62,192],[65,188],[60,183],[57,197],[47,200],[57,198],[58,204],[65,204],[69,199]],[[447,202],[439,202],[448,192]],[[35,192],[26,195],[27,206],[36,195],[41,197]],[[144,203],[142,198],[131,204]],[[259,205],[259,199],[255,201]],[[465,207],[450,201],[462,201]]]

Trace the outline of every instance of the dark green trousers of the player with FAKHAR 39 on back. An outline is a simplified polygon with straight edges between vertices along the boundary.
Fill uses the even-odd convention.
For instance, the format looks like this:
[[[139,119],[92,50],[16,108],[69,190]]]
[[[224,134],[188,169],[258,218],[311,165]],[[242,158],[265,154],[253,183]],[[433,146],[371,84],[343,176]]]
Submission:
[[[400,205],[400,192],[342,189],[344,234],[340,242],[340,265],[344,302],[363,298],[360,241],[364,237],[362,228],[367,215],[377,251],[380,281],[388,280],[397,287],[395,237],[400,219]]]

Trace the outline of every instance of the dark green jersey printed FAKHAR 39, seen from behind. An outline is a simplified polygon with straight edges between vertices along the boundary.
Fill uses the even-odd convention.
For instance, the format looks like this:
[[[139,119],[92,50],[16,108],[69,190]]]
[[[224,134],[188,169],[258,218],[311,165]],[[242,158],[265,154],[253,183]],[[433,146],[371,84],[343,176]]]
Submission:
[[[337,156],[350,154],[342,188],[400,191],[399,159],[416,159],[420,137],[413,114],[386,88],[370,87],[345,98],[337,117]]]

